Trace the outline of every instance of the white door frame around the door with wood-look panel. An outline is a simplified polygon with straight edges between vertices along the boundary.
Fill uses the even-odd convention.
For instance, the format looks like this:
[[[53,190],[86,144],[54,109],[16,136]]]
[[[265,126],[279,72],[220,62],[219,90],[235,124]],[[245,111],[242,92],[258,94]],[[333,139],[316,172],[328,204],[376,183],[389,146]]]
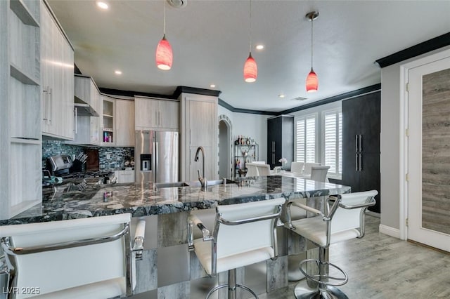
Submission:
[[[407,240],[408,239],[408,227],[406,225],[406,220],[408,219],[408,204],[409,204],[409,194],[408,194],[408,180],[406,175],[408,174],[408,90],[407,83],[409,81],[408,72],[409,69],[413,67],[420,67],[421,65],[427,65],[428,63],[435,62],[436,60],[441,60],[450,56],[450,49],[446,49],[444,51],[440,51],[437,53],[432,53],[423,58],[419,58],[417,60],[407,62],[404,65],[400,65],[400,115],[399,115],[399,132],[400,132],[400,159],[399,163],[399,174],[400,174],[400,188],[399,188],[399,196],[400,196],[400,206],[399,206],[399,231],[400,231],[400,239]]]

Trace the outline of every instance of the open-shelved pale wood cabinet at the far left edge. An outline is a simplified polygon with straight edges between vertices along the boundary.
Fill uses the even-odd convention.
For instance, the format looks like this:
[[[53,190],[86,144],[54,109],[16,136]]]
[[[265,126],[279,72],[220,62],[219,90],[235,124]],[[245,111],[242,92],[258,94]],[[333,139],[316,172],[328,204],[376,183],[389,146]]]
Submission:
[[[0,220],[42,200],[39,9],[0,1]]]

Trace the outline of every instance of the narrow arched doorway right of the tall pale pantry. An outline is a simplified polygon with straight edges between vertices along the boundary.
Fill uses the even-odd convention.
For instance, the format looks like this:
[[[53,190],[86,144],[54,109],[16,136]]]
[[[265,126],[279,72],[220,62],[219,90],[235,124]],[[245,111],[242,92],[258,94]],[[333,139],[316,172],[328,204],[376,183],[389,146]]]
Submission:
[[[231,121],[226,115],[219,116],[219,178],[231,178]]]

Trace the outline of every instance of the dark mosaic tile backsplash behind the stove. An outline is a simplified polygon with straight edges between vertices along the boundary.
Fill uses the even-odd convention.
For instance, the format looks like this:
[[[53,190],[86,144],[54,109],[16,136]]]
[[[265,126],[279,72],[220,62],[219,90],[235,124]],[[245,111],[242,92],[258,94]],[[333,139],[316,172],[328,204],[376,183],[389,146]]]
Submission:
[[[83,153],[86,148],[98,150],[99,168],[101,171],[124,168],[124,163],[127,159],[134,159],[134,147],[84,147],[68,145],[61,140],[42,140],[42,166],[45,166],[47,157],[57,154],[77,156],[79,153]]]

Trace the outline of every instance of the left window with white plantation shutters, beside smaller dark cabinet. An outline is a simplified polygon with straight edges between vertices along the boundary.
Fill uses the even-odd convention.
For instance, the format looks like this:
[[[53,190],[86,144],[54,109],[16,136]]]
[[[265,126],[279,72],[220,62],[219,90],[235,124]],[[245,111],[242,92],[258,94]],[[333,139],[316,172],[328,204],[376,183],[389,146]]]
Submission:
[[[295,161],[316,161],[317,114],[298,117],[295,121]]]

